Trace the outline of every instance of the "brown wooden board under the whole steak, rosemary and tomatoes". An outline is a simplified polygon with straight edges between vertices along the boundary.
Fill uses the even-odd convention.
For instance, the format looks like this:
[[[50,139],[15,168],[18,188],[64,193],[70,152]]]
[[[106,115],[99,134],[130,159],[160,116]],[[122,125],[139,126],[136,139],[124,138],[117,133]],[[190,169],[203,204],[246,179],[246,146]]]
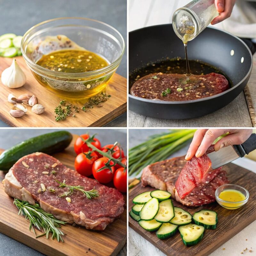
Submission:
[[[70,146],[63,152],[53,156],[60,160],[69,168],[74,169],[76,154],[73,146],[77,135],[73,135]],[[3,150],[0,149],[0,153]],[[45,236],[35,238],[33,231],[29,231],[29,222],[24,216],[18,215],[18,210],[13,204],[13,198],[5,194],[2,180],[4,173],[0,171],[0,232],[6,236],[32,247],[48,256],[107,256],[116,255],[126,243],[127,238],[127,202],[124,194],[124,212],[120,219],[115,220],[107,226],[104,231],[92,231],[82,226],[73,227],[70,224],[63,225],[61,230],[66,236],[63,237],[64,243],[56,239],[46,239]],[[37,235],[41,233],[36,231]]]

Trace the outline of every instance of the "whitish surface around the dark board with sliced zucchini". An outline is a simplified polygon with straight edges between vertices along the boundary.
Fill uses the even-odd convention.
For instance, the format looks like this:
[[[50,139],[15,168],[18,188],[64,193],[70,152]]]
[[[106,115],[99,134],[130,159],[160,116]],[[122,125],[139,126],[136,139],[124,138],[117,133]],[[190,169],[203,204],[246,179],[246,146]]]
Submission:
[[[166,132],[167,130],[162,130]],[[140,142],[146,140],[146,138],[151,134],[160,133],[159,129],[130,129],[129,130],[129,148],[138,145]],[[189,145],[189,143],[188,143]],[[188,149],[188,145],[185,148],[180,149],[174,156],[185,155]],[[242,166],[252,172],[256,173],[256,162],[248,158],[240,158],[233,162],[239,166]],[[252,180],[255,182],[256,180]],[[256,256],[256,221],[252,222],[242,231],[240,231],[236,236],[233,236],[225,244],[216,248],[210,256],[238,256],[238,255],[248,255]],[[246,241],[247,239],[247,241]],[[171,245],[170,245],[171,246]],[[252,247],[252,249],[251,249]],[[145,238],[140,236],[132,228],[129,227],[129,256],[164,256],[165,254],[158,250],[153,244],[148,242]],[[223,250],[225,248],[225,250]],[[245,248],[248,248],[244,254],[241,254]],[[252,250],[252,252],[249,252]],[[168,255],[169,256],[169,255]],[[176,255],[172,255],[176,256]]]

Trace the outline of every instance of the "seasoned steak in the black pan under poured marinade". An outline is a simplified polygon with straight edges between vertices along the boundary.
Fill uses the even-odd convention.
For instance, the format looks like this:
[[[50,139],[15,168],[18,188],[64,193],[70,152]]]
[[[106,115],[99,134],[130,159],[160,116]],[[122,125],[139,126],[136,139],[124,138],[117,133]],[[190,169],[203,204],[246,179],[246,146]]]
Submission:
[[[178,89],[180,88],[180,89]],[[153,73],[139,78],[131,88],[133,96],[151,100],[197,100],[228,90],[225,76]],[[169,93],[162,93],[169,89]]]

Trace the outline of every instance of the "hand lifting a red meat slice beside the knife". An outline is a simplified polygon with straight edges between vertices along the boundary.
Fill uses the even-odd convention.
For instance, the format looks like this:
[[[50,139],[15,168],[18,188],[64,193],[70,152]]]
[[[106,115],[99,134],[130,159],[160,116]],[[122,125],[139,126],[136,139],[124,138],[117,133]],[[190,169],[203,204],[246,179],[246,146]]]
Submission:
[[[214,145],[215,151],[230,145],[242,144],[250,137],[252,129],[198,129],[194,134],[185,159],[190,160],[193,156],[203,156],[212,142],[227,132],[229,134]]]

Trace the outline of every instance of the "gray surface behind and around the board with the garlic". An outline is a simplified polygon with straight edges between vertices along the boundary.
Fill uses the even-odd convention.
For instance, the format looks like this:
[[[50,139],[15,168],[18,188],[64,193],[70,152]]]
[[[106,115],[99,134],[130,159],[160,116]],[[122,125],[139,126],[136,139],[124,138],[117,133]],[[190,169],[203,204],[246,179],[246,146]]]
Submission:
[[[124,41],[127,41],[126,0],[0,0],[0,9],[0,35],[24,35],[32,26],[53,18],[84,17],[106,22],[116,28],[124,37]],[[127,76],[126,51],[116,73]],[[107,126],[126,126],[126,114]],[[0,127],[8,127],[8,124],[0,120]]]

